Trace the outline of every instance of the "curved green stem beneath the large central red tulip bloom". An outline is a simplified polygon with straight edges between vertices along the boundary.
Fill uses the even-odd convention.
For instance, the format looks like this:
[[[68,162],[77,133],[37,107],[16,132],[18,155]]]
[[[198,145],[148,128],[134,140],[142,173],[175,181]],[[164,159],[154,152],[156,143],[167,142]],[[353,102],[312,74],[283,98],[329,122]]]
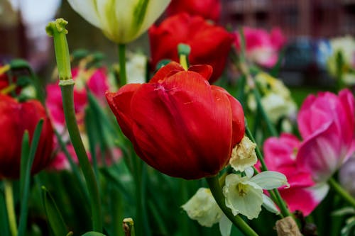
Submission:
[[[206,181],[209,185],[209,189],[211,189],[214,199],[224,215],[226,215],[226,217],[229,218],[229,220],[231,220],[231,222],[238,227],[244,235],[257,236],[258,234],[239,215],[234,216],[233,213],[231,213],[231,209],[226,207],[225,198],[221,186],[219,186],[218,176],[207,177]]]

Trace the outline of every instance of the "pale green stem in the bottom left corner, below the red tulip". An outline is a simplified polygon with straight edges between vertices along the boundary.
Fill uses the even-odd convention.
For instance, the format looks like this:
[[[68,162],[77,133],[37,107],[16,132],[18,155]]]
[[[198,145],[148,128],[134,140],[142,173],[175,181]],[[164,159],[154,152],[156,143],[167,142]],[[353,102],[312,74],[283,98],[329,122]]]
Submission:
[[[9,217],[9,227],[12,236],[17,235],[17,225],[16,225],[16,214],[13,207],[13,191],[12,191],[12,182],[10,180],[4,179],[4,191],[5,191],[5,201],[6,201],[6,210]]]

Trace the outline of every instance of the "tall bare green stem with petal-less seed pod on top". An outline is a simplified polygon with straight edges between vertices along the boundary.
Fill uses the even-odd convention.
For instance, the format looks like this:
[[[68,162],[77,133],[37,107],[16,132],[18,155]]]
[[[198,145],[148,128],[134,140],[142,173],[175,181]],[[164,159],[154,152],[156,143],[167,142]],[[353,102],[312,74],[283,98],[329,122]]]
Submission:
[[[65,34],[67,30],[65,26],[67,21],[62,18],[50,22],[46,28],[47,33],[54,38],[55,57],[57,60],[58,72],[60,76],[60,89],[62,91],[62,103],[65,113],[65,123],[70,135],[70,140],[74,147],[77,159],[79,159],[80,167],[87,184],[89,192],[90,205],[92,208],[92,225],[93,230],[102,232],[102,211],[99,198],[99,188],[97,179],[92,171],[92,167],[87,157],[87,152],[80,137],[80,130],[77,126],[74,108],[74,81],[70,69],[70,55]]]

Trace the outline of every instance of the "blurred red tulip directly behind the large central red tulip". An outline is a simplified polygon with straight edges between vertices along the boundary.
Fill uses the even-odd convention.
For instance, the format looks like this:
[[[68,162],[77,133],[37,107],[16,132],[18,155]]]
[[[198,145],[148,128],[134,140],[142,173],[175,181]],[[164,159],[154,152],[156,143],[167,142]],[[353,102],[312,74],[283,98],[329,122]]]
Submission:
[[[224,28],[208,23],[201,16],[180,13],[166,18],[160,26],[152,26],[149,31],[151,40],[151,63],[163,59],[178,62],[178,45],[190,45],[191,64],[209,64],[213,67],[210,83],[216,81],[226,65],[233,36]]]

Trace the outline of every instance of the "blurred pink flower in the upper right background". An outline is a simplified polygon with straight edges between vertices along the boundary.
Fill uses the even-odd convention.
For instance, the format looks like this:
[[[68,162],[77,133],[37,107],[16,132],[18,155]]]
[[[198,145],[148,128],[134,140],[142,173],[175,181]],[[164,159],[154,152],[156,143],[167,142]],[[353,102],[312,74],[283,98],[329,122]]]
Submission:
[[[261,28],[245,27],[246,57],[261,64],[263,67],[273,67],[278,61],[278,52],[285,45],[286,39],[280,28],[273,28],[271,33]],[[241,50],[240,35],[236,33],[236,50]]]

